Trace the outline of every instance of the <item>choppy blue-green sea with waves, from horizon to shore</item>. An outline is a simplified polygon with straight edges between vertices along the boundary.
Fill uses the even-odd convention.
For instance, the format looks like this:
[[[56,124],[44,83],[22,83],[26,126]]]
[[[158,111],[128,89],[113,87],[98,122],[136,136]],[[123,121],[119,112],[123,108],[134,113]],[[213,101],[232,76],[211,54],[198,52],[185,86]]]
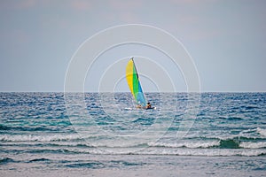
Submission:
[[[266,176],[266,93],[0,93],[0,176]]]

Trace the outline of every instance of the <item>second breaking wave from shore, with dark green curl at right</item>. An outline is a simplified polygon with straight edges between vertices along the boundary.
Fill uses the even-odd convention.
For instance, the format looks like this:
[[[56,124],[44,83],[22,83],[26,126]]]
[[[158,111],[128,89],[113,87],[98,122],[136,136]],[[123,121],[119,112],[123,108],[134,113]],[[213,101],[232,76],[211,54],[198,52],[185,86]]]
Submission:
[[[228,139],[188,139],[183,142],[113,143],[106,145],[97,141],[84,142],[79,135],[0,135],[1,146],[58,147],[58,148],[188,148],[188,149],[265,149],[264,139],[231,137]],[[15,143],[13,143],[15,142]],[[43,143],[45,142],[45,143]]]

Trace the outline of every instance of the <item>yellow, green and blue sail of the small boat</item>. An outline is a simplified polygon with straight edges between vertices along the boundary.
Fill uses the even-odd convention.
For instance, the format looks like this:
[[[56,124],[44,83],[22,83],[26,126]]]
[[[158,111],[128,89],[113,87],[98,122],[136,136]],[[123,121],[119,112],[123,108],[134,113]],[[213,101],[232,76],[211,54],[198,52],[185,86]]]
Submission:
[[[142,106],[146,105],[146,100],[144,93],[142,91],[140,82],[138,80],[138,74],[136,65],[134,64],[133,58],[130,58],[129,63],[126,68],[126,78],[129,84],[129,89],[132,93],[132,96],[137,101],[137,104],[141,104]]]

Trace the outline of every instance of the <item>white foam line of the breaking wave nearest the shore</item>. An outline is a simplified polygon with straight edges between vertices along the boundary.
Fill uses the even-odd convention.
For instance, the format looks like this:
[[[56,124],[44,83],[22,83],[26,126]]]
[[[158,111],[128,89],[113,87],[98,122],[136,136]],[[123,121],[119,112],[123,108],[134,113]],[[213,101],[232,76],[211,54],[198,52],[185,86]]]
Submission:
[[[21,143],[21,142],[20,142]],[[25,142],[26,143],[26,142]],[[34,142],[30,142],[34,143]],[[190,148],[86,148],[86,147],[34,147],[34,146],[11,146],[8,150],[26,150],[29,153],[31,150],[56,150],[61,152],[74,152],[77,154],[95,154],[95,155],[166,155],[166,156],[205,156],[205,157],[231,157],[231,156],[260,156],[265,155],[265,149],[190,149]],[[52,152],[51,152],[52,153]]]

